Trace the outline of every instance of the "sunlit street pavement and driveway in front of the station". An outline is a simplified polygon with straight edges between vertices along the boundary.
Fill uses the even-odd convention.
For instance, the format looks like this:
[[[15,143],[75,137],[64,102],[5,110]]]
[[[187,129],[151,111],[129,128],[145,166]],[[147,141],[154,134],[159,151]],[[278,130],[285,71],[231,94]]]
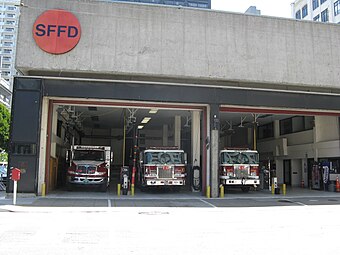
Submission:
[[[0,254],[338,254],[340,194],[0,193]]]

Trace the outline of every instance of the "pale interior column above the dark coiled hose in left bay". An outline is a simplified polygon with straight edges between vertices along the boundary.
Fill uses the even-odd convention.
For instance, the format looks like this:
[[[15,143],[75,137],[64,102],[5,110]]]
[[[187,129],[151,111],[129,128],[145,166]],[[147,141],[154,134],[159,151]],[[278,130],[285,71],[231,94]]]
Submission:
[[[191,150],[192,150],[192,165],[200,166],[201,125],[199,111],[192,111],[191,113]]]

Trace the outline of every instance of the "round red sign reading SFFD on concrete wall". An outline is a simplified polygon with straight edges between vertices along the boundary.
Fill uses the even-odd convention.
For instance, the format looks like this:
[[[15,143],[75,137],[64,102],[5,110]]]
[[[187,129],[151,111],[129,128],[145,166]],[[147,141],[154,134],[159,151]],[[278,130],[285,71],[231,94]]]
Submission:
[[[35,42],[51,54],[63,54],[72,50],[78,44],[80,34],[77,17],[65,10],[45,11],[33,26]]]

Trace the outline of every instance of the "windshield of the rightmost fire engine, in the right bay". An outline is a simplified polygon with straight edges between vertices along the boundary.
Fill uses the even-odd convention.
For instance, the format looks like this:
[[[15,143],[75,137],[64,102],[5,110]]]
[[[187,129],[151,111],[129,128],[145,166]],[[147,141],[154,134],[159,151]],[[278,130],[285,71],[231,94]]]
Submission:
[[[257,152],[223,151],[221,154],[222,164],[258,164]]]

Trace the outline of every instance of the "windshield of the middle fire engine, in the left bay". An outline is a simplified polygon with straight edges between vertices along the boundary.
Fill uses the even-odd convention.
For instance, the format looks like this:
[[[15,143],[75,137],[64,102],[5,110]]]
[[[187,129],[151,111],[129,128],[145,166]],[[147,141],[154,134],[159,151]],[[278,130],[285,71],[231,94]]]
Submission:
[[[145,164],[184,164],[184,153],[180,151],[149,151],[145,153]]]

